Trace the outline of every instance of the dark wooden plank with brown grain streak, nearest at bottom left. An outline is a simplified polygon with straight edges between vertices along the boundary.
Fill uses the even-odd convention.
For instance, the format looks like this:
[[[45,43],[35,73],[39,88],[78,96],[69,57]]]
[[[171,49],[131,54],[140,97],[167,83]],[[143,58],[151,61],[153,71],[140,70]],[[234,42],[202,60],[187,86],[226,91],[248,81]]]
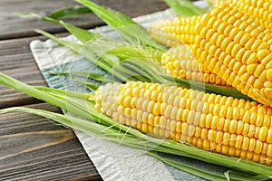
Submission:
[[[25,113],[2,114],[0,125],[0,180],[102,180],[72,129]]]

